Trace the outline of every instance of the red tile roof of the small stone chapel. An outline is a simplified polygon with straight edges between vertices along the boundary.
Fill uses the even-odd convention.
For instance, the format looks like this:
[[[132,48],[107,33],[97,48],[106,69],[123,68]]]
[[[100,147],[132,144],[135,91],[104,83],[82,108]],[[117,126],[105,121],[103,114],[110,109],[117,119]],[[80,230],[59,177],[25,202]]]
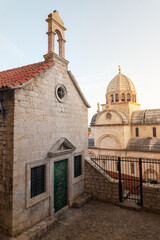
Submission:
[[[27,82],[46,68],[51,66],[53,62],[39,62],[27,66],[9,69],[0,72],[0,88],[9,88]]]

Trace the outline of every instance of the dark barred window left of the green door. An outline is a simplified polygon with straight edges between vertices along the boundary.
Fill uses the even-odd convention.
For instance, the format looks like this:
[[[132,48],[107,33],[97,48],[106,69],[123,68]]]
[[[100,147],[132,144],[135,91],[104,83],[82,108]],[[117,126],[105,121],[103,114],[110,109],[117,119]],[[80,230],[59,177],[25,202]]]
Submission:
[[[46,166],[31,168],[31,198],[45,192]]]

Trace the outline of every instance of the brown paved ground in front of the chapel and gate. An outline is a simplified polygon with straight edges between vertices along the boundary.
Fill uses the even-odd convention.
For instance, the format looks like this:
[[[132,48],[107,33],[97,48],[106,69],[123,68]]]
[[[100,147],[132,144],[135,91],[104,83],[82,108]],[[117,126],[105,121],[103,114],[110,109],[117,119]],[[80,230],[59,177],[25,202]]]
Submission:
[[[58,217],[42,240],[160,240],[160,215],[91,200]]]

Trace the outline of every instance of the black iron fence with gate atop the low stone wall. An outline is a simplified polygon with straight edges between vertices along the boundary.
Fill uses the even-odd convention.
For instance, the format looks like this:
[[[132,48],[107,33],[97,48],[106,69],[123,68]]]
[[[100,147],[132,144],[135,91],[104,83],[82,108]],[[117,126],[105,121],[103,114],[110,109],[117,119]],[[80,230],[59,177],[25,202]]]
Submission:
[[[119,201],[143,205],[143,184],[160,184],[160,159],[99,156],[91,158],[105,174],[119,180]]]

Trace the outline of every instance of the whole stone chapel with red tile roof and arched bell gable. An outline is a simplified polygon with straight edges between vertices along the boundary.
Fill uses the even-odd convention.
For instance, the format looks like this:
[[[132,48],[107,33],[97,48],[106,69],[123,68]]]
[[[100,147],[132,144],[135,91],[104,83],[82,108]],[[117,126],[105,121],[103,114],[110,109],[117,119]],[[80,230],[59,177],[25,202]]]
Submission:
[[[90,105],[68,71],[59,13],[46,21],[44,61],[0,72],[0,228],[10,236],[84,192]]]

